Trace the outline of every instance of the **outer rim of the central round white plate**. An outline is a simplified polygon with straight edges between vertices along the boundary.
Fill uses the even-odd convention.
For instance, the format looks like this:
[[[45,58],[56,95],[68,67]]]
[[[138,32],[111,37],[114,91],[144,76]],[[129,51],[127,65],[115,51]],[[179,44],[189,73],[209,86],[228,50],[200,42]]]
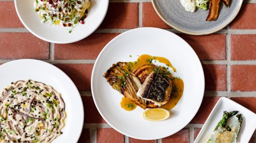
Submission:
[[[176,37],[178,37],[178,38],[180,38],[182,41],[184,41],[186,44],[188,44],[184,39],[182,39],[181,37],[179,37],[177,34],[174,34],[174,33],[170,32],[170,31],[166,31],[166,30],[164,30],[164,29],[156,28],[156,27],[139,27],[139,28],[131,29],[131,30],[129,30],[129,31],[125,31],[124,33],[121,33],[121,34],[117,35],[116,37],[114,37],[114,38],[102,49],[102,51],[100,51],[100,54],[98,55],[98,57],[97,57],[97,59],[96,59],[96,61],[95,61],[95,63],[94,63],[94,66],[93,66],[93,68],[92,68],[92,76],[91,76],[92,98],[93,98],[93,102],[94,102],[94,104],[95,104],[95,106],[96,106],[98,112],[99,112],[100,115],[102,116],[102,118],[103,118],[113,129],[117,130],[119,133],[122,133],[122,134],[124,134],[125,136],[129,136],[129,137],[132,137],[132,138],[135,138],[135,139],[139,139],[139,140],[157,140],[157,139],[165,138],[165,137],[167,137],[167,136],[171,136],[171,135],[173,135],[174,133],[173,133],[173,134],[169,134],[169,135],[167,135],[167,136],[161,136],[160,138],[153,138],[153,137],[141,138],[141,137],[131,136],[131,135],[128,134],[128,133],[124,133],[124,132],[120,131],[120,130],[117,129],[115,126],[113,126],[111,123],[109,123],[109,121],[103,116],[103,113],[100,111],[99,106],[96,104],[96,101],[95,101],[95,98],[96,98],[96,97],[95,97],[94,88],[93,88],[93,84],[94,84],[93,78],[94,78],[94,76],[95,76],[95,70],[96,70],[96,66],[95,66],[95,65],[98,64],[99,57],[101,56],[101,54],[103,54],[104,51],[107,49],[107,47],[108,47],[111,43],[113,43],[117,38],[121,37],[122,35],[124,35],[124,34],[126,34],[126,33],[128,33],[128,32],[138,31],[138,30],[141,30],[141,29],[155,29],[155,30],[159,30],[159,31],[169,32],[170,34],[175,35]],[[196,60],[200,63],[200,69],[199,69],[199,71],[202,73],[202,81],[203,81],[203,83],[202,83],[202,84],[203,84],[203,85],[202,85],[202,89],[203,89],[202,92],[203,92],[203,93],[202,93],[202,97],[201,97],[201,99],[200,99],[200,106],[201,106],[201,104],[202,104],[202,102],[203,102],[203,95],[204,95],[204,92],[205,92],[205,90],[204,90],[204,89],[205,89],[205,77],[204,77],[204,72],[203,72],[203,66],[202,66],[202,64],[201,64],[201,62],[200,62],[199,57],[197,56],[196,52],[194,51],[194,49],[193,49],[189,44],[188,44],[188,46],[191,48],[192,52],[196,55]],[[196,113],[198,112],[200,106],[198,106],[197,111],[196,111],[195,114],[192,116],[192,118],[189,119],[189,122],[188,122],[188,123],[190,123],[191,120],[196,116]],[[187,123],[187,124],[188,124],[188,123]],[[181,129],[183,129],[185,126],[187,126],[187,124],[185,124],[184,126],[181,126]],[[180,131],[181,129],[178,129],[178,131]],[[178,132],[178,131],[177,131],[177,132]],[[177,132],[176,132],[176,133],[177,133]]]

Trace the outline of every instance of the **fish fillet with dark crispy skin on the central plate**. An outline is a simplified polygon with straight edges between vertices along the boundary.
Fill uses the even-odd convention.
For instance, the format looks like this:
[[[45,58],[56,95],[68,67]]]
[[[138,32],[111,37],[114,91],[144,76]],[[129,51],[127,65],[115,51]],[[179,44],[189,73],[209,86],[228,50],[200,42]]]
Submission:
[[[170,99],[171,84],[156,72],[151,72],[139,88],[137,95],[156,106],[162,106]]]

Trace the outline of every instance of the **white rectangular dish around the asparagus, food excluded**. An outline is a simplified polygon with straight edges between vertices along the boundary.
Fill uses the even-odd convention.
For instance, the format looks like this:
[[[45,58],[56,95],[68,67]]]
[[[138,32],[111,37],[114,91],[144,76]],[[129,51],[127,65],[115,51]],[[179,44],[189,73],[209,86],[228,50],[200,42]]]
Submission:
[[[220,122],[224,111],[238,111],[238,114],[242,114],[243,122],[237,137],[237,143],[249,143],[256,129],[256,114],[226,97],[221,97],[214,106],[194,143],[207,143],[210,132],[212,132]]]

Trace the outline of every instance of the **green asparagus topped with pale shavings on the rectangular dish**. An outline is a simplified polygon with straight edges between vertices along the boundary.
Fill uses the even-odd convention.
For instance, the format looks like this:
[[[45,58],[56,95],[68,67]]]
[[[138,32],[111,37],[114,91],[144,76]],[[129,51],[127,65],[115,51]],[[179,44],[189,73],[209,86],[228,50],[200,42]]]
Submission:
[[[243,120],[242,115],[236,115],[237,113],[238,111],[224,111],[222,119],[210,133],[207,143],[236,143]]]

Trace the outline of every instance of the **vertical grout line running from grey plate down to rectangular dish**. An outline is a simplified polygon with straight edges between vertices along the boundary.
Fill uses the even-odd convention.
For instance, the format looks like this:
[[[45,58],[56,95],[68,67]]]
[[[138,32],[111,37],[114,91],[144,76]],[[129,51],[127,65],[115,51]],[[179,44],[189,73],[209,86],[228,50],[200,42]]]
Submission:
[[[227,31],[229,31],[229,25],[227,26]],[[230,92],[230,89],[231,89],[231,82],[230,82],[230,42],[231,42],[231,35],[230,33],[228,32],[228,34],[226,35],[226,59],[228,61],[228,64],[227,64],[227,91]],[[228,95],[228,98],[230,98],[230,96]]]

